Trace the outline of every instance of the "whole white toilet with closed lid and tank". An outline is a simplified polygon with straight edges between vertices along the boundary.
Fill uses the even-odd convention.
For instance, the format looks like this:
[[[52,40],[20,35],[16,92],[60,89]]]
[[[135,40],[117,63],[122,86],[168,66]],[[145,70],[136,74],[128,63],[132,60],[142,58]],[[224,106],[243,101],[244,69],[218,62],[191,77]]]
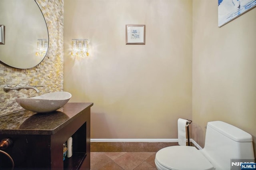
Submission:
[[[205,145],[169,146],[156,153],[158,170],[230,170],[231,159],[253,159],[252,135],[222,121],[208,122]]]

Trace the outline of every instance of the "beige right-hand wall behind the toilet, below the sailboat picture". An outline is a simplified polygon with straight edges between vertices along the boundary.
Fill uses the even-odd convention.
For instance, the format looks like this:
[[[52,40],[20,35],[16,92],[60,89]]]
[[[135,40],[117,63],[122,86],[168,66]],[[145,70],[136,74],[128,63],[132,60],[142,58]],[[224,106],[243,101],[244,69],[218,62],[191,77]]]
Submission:
[[[193,0],[193,139],[208,121],[252,134],[256,154],[256,8],[218,28],[215,1]]]

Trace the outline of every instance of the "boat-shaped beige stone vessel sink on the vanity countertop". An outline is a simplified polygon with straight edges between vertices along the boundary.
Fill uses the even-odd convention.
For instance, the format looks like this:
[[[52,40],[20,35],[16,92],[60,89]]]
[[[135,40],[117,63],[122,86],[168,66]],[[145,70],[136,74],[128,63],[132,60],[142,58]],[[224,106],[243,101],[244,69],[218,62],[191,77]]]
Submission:
[[[71,96],[72,95],[68,92],[58,91],[46,93],[36,97],[17,98],[16,102],[28,111],[48,113],[60,109],[62,106],[68,103]]]

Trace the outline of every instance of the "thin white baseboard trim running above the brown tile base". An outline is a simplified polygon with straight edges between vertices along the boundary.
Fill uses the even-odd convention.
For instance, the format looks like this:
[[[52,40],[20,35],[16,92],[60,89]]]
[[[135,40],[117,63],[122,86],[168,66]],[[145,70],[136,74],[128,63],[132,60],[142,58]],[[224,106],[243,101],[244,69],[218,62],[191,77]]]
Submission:
[[[96,139],[96,138],[91,138],[91,142],[178,142],[178,139],[107,139],[107,138],[102,138],[102,139]],[[187,140],[188,141],[188,140]],[[190,141],[196,146],[198,149],[202,149],[202,147],[196,143],[193,139],[190,139]]]

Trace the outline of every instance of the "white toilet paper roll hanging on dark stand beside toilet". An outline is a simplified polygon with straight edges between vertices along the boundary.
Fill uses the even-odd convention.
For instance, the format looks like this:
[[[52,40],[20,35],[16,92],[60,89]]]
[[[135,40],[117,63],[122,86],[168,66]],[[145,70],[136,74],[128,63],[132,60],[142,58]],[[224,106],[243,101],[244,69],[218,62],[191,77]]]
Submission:
[[[178,143],[179,145],[186,146],[186,127],[188,126],[188,120],[178,119]]]

